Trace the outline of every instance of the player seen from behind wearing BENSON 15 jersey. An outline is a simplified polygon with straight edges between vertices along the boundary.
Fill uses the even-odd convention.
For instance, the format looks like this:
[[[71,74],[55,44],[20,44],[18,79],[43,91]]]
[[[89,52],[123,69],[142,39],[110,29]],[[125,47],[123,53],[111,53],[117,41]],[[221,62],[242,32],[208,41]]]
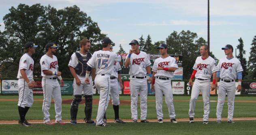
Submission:
[[[110,74],[113,71],[114,62],[120,62],[121,56],[114,52],[110,52],[111,40],[104,38],[102,40],[103,49],[93,53],[92,58],[87,62],[87,70],[85,74],[85,83],[90,84],[89,74],[92,68],[96,70],[96,77],[94,80],[96,89],[100,91],[100,101],[97,113],[96,126],[110,126],[103,121],[109,103],[110,93]]]

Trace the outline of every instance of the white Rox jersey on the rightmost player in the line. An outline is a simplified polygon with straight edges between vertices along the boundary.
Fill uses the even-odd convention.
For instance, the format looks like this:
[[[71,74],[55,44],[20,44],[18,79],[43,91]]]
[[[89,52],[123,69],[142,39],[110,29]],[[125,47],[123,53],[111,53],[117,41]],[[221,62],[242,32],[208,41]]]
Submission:
[[[236,80],[237,72],[243,71],[241,62],[237,58],[227,59],[224,57],[220,59],[217,67],[220,70],[220,78],[224,80]]]

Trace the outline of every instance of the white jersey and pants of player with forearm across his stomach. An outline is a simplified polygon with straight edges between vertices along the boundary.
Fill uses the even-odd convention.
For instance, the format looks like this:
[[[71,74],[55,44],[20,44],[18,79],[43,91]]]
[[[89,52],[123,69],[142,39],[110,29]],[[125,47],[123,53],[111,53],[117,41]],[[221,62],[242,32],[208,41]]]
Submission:
[[[163,119],[164,114],[162,112],[163,94],[165,97],[165,103],[168,107],[169,117],[175,118],[175,110],[173,105],[173,90],[171,86],[171,78],[173,78],[173,72],[165,70],[157,70],[157,67],[163,68],[178,68],[176,60],[169,56],[166,58],[159,57],[155,60],[152,71],[155,74],[155,92],[156,92],[156,115],[157,119]]]

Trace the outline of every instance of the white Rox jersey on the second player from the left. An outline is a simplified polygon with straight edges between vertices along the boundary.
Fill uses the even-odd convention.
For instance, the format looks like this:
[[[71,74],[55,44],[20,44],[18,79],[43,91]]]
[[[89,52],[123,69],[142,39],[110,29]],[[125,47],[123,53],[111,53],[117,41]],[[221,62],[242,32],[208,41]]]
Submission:
[[[41,75],[46,78],[53,78],[57,77],[57,75],[46,75],[43,73],[43,70],[50,70],[51,72],[58,72],[58,59],[55,55],[53,57],[49,57],[48,55],[43,55],[40,59],[40,65],[41,65]]]

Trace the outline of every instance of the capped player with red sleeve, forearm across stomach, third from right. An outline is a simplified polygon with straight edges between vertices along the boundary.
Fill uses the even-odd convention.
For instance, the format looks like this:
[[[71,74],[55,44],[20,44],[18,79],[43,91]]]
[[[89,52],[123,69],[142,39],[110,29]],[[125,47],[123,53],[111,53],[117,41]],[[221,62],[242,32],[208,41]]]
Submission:
[[[173,105],[173,90],[171,86],[171,78],[173,78],[173,72],[178,68],[178,65],[175,58],[168,55],[167,48],[168,47],[166,44],[160,44],[157,47],[162,56],[155,60],[152,68],[153,81],[151,84],[151,90],[154,91],[154,84],[156,84],[156,115],[158,122],[163,122],[164,114],[162,112],[162,102],[164,94],[170,120],[173,123],[177,123],[175,119],[175,110]]]

